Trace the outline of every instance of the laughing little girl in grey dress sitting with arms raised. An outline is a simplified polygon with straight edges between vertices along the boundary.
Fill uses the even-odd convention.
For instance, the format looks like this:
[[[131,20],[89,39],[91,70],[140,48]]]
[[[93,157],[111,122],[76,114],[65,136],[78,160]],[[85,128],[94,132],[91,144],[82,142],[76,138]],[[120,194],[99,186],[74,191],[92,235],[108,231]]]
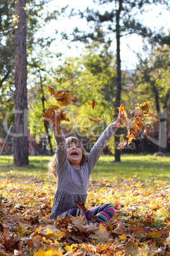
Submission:
[[[55,124],[55,117],[49,117],[49,122]],[[91,171],[100,158],[103,147],[112,137],[117,128],[123,123],[119,117],[114,123],[108,125],[98,141],[88,154],[79,139],[69,137],[65,139],[61,130],[61,136],[56,136],[56,153],[48,164],[49,172],[55,174],[56,192],[53,201],[50,218],[57,216],[65,218],[68,213],[74,217],[83,215],[86,223],[95,217],[96,222],[108,222],[113,217],[115,210],[112,204],[103,204],[82,212],[76,206],[77,203],[85,203],[88,190],[88,181]]]

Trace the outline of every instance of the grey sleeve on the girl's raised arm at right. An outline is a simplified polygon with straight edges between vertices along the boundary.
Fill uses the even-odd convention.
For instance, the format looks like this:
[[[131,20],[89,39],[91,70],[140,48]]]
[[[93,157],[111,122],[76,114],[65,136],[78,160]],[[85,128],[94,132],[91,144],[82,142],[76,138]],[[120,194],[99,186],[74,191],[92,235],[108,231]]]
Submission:
[[[100,155],[103,151],[104,146],[107,144],[109,139],[113,136],[113,134],[117,131],[117,127],[115,127],[112,123],[108,125],[108,127],[103,131],[100,138],[96,141],[93,148],[91,148],[91,151],[88,155],[88,163],[91,171],[95,167],[96,163],[98,162],[98,159],[100,158]]]

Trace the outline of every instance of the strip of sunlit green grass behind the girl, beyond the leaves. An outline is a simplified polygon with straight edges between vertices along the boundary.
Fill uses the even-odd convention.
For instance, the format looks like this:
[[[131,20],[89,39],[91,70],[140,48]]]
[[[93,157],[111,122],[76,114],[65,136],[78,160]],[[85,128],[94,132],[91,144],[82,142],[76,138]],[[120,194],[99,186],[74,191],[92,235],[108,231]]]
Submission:
[[[29,166],[13,167],[13,157],[0,157],[1,173],[8,173],[10,170],[22,175],[45,176],[48,169],[47,164],[50,157],[30,156]],[[170,157],[154,157],[153,155],[121,155],[121,162],[113,162],[113,156],[102,155],[96,164],[91,177],[95,180],[105,178],[139,178],[141,181],[157,177],[159,180],[169,181],[170,178]],[[170,182],[170,181],[169,181]]]

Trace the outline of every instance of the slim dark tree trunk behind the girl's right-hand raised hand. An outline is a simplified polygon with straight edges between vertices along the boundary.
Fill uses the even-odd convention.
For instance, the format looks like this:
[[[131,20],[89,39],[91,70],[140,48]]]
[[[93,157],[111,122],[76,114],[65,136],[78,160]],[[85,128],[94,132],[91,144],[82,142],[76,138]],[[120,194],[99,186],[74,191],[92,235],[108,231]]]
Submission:
[[[117,118],[117,107],[121,105],[121,89],[122,89],[122,72],[121,72],[121,31],[120,31],[120,15],[122,10],[122,0],[119,0],[119,9],[116,11],[116,42],[117,42],[117,88],[115,94],[115,118]],[[120,129],[115,132],[115,162],[121,161],[121,152],[117,150],[117,145],[120,142]]]

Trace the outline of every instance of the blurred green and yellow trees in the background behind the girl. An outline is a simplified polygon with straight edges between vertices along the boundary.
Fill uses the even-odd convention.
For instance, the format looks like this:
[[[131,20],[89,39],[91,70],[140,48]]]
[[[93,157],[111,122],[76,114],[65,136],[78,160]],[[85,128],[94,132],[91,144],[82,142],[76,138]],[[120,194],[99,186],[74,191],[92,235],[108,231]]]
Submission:
[[[55,89],[72,89],[79,101],[64,107],[70,123],[63,124],[65,134],[70,133],[79,138],[88,138],[96,141],[101,132],[117,117],[117,107],[124,103],[128,110],[131,106],[137,106],[143,101],[149,101],[151,111],[159,115],[166,109],[169,115],[169,32],[152,31],[138,20],[138,13],[145,11],[149,4],[164,4],[169,8],[168,1],[108,1],[98,0],[98,4],[112,4],[110,11],[105,13],[100,10],[89,10],[84,13],[74,13],[86,18],[90,32],[80,31],[75,28],[72,34],[62,33],[62,37],[68,41],[82,41],[84,52],[81,56],[65,59],[56,68],[53,62],[60,59],[62,52],[51,51],[51,43],[58,36],[57,31],[45,38],[42,36],[46,24],[51,19],[60,19],[65,13],[65,8],[48,11],[48,1],[27,1],[25,5],[27,25],[27,93],[29,108],[29,131],[35,134],[37,141],[44,133],[41,121],[41,113],[44,108],[56,104],[50,96],[47,85]],[[15,44],[17,22],[14,18],[16,5],[13,1],[1,1],[0,4],[0,92],[1,92],[1,138],[5,133],[3,120],[11,111],[15,110],[14,99],[16,85],[15,79]],[[19,23],[19,22],[18,22]],[[145,57],[138,54],[138,64],[135,72],[129,73],[121,67],[121,38],[126,34],[138,34],[143,38]],[[116,47],[113,39],[116,38]],[[116,54],[114,50],[116,48]],[[88,103],[95,100],[95,108],[92,110]],[[16,101],[16,99],[15,99]],[[103,122],[94,124],[88,117],[101,118]],[[15,115],[8,117],[8,125],[14,124]],[[163,118],[164,119],[164,118]],[[165,120],[162,119],[162,122]],[[167,119],[166,119],[167,121]],[[167,122],[168,127],[169,123]],[[115,160],[119,161],[120,151],[115,149],[115,143],[126,134],[124,128],[119,129],[108,146],[115,153]],[[52,131],[46,131],[49,150],[53,152],[55,145]],[[165,136],[166,134],[159,134]],[[52,139],[52,142],[51,142]],[[164,151],[165,148],[159,148]],[[24,164],[24,163],[23,163]],[[17,165],[17,164],[16,164]],[[18,164],[19,165],[19,164]]]

